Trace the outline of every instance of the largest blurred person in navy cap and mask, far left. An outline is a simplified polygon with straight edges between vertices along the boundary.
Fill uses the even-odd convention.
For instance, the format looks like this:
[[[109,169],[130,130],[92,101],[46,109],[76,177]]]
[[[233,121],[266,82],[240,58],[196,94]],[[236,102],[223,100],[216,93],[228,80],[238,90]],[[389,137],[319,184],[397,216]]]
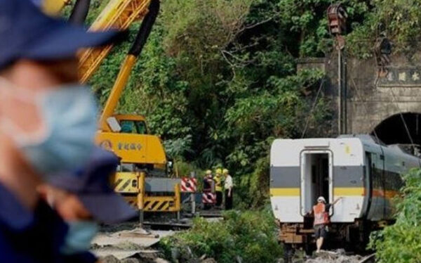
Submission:
[[[0,261],[60,262],[67,225],[40,200],[46,174],[84,165],[95,100],[76,52],[116,32],[87,33],[28,0],[0,0]]]

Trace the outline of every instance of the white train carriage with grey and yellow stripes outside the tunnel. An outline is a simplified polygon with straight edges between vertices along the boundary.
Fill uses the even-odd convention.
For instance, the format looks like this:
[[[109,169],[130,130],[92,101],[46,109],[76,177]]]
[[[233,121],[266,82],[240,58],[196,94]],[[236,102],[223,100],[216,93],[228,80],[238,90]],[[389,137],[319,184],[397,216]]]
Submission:
[[[342,197],[330,209],[330,240],[364,243],[375,224],[392,220],[401,174],[413,167],[420,167],[419,158],[368,135],[275,140],[270,196],[281,242],[311,250],[312,219],[306,214],[323,196],[330,203]]]

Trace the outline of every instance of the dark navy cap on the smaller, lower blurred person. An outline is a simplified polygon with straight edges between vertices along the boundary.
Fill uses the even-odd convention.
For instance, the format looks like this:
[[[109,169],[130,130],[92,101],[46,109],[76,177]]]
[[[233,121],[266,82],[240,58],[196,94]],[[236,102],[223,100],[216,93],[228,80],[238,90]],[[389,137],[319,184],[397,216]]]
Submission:
[[[48,179],[48,184],[76,194],[98,222],[124,222],[135,217],[137,212],[109,185],[109,176],[116,172],[118,164],[116,155],[95,148],[85,168],[73,173],[54,174]]]

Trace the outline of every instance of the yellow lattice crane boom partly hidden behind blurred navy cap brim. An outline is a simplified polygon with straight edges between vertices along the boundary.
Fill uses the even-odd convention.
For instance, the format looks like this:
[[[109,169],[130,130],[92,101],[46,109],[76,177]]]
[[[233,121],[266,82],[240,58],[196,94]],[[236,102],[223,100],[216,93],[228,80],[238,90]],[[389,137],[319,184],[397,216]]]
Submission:
[[[90,30],[127,30],[134,20],[147,14],[150,2],[151,0],[111,0]],[[86,49],[81,53],[79,74],[82,82],[88,81],[111,49],[112,46],[105,46],[100,49]]]

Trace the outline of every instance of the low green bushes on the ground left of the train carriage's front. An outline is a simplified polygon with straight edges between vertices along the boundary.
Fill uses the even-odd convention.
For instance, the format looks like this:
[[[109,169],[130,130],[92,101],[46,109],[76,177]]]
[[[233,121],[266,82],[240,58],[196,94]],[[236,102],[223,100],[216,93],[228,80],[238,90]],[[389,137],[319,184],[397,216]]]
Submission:
[[[181,255],[213,257],[219,263],[276,262],[282,249],[276,240],[274,218],[270,210],[259,212],[225,212],[221,222],[194,219],[189,231],[175,234],[160,241],[161,248],[171,259],[171,249],[178,248]],[[270,252],[268,252],[270,251]]]

